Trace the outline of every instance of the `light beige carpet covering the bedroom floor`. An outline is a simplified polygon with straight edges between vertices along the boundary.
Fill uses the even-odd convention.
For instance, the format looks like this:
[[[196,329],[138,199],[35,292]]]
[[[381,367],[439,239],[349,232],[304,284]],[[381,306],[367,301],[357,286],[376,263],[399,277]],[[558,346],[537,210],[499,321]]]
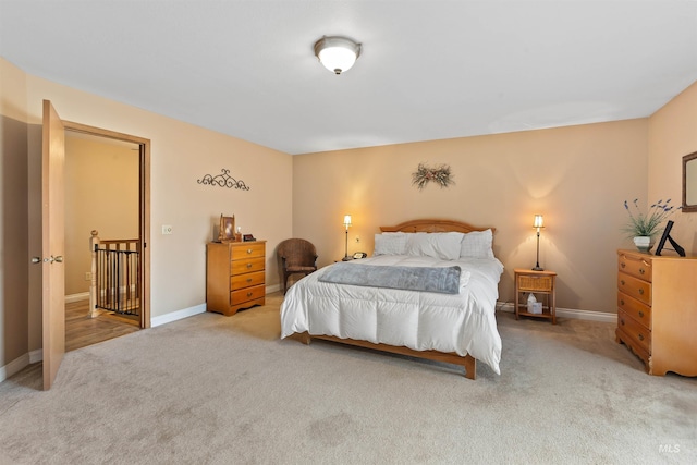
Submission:
[[[12,464],[697,463],[697,379],[613,326],[499,313],[502,375],[279,340],[281,296],[66,354],[0,384]]]

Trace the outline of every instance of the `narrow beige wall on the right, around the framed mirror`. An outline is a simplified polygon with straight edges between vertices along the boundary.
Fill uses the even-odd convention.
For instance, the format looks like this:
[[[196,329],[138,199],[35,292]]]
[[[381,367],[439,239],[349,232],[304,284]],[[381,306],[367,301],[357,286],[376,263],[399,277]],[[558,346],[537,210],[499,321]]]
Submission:
[[[682,201],[683,157],[697,151],[697,83],[649,119],[648,200]],[[671,217],[673,237],[687,253],[697,254],[697,213]]]

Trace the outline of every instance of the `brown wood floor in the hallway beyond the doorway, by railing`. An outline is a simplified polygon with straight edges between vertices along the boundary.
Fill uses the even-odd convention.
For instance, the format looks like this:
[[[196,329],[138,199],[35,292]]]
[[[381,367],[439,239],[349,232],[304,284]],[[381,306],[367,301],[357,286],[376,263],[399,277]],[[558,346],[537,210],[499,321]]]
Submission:
[[[65,352],[139,330],[139,317],[102,313],[89,317],[89,301],[65,304]]]

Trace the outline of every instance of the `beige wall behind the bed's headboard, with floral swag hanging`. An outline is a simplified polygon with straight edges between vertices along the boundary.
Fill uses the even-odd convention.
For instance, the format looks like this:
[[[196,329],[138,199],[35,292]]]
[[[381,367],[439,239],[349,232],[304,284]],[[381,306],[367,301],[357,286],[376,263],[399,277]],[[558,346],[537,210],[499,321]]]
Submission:
[[[647,120],[588,124],[293,158],[293,231],[314,242],[320,265],[372,252],[380,225],[445,218],[496,227],[505,266],[501,301],[513,301],[513,269],[535,265],[536,213],[545,216],[540,265],[559,273],[558,305],[615,311],[615,249],[623,201],[646,196]],[[455,185],[411,185],[419,162],[448,163]],[[355,236],[360,237],[356,244]]]

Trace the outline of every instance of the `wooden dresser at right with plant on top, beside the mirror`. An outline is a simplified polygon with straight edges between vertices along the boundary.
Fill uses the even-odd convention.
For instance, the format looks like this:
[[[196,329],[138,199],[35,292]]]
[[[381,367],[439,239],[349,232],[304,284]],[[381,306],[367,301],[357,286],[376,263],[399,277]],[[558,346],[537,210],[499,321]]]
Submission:
[[[617,250],[617,343],[649,375],[697,376],[697,259]]]

